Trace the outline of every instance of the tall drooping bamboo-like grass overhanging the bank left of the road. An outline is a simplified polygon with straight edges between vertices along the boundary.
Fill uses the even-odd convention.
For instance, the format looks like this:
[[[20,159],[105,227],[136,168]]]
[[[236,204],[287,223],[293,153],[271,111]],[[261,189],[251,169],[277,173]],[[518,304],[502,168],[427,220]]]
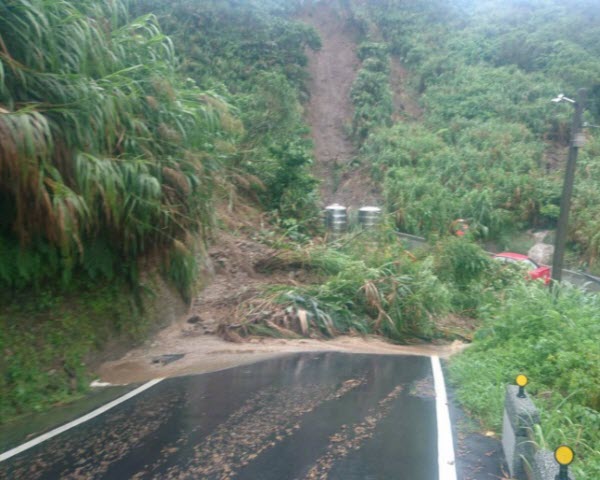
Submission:
[[[135,259],[201,231],[226,110],[125,0],[1,1],[0,235],[77,264],[98,236]]]

